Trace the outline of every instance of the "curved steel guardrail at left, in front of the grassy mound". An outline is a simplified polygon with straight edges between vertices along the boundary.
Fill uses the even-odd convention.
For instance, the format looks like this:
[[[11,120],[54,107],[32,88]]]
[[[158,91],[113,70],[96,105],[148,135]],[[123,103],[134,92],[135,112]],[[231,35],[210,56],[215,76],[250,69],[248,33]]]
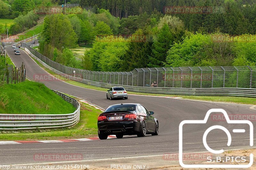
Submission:
[[[44,115],[44,114],[0,114],[0,131],[36,130],[64,128],[75,125],[80,118],[80,104],[73,98],[53,90],[76,111],[70,114]]]

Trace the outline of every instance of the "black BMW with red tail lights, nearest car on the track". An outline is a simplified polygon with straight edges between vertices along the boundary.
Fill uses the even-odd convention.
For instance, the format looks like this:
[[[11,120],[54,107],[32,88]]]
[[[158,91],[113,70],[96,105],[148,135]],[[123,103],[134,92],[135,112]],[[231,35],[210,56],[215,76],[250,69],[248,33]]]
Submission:
[[[159,124],[153,114],[139,103],[108,106],[98,117],[98,136],[107,139],[108,135],[116,135],[116,138],[123,138],[124,135],[158,135]]]

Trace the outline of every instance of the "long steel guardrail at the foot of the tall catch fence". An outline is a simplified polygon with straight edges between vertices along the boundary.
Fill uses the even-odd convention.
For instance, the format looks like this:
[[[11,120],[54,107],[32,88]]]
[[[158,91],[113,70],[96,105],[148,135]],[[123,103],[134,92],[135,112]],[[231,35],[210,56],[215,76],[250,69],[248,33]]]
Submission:
[[[34,59],[39,61],[44,67],[48,68],[52,72],[59,74],[67,79],[88,84],[91,86],[110,88],[113,86],[122,86],[128,91],[143,92],[143,93],[159,93],[159,94],[173,94],[173,95],[196,95],[196,96],[247,96],[256,97],[256,89],[246,88],[158,88],[158,87],[138,87],[138,86],[126,86],[118,84],[102,83],[97,81],[89,81],[68,74],[64,74],[44,63],[42,60],[32,54],[27,48],[25,48]]]

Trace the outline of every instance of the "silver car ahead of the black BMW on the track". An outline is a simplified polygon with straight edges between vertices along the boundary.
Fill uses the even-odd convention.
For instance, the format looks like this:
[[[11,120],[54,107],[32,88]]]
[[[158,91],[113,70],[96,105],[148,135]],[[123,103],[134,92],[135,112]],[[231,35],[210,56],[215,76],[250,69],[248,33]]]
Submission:
[[[111,87],[107,91],[107,99],[114,99],[114,98],[124,98],[128,99],[128,94],[123,87]]]

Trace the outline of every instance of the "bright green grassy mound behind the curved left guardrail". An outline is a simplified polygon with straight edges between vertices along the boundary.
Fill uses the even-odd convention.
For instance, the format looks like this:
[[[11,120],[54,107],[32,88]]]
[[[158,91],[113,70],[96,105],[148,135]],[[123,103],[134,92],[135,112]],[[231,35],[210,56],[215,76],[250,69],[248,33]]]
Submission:
[[[75,110],[42,83],[25,81],[0,87],[0,114],[68,114]]]

